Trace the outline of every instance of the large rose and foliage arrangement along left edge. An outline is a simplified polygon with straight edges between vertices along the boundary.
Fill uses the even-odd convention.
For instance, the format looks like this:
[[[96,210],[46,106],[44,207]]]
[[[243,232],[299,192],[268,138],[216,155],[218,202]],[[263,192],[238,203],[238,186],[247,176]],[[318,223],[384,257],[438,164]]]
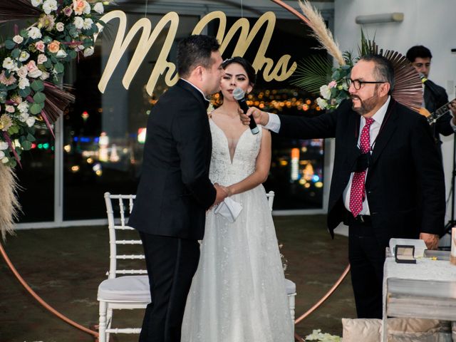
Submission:
[[[14,167],[30,150],[37,125],[52,124],[74,100],[61,88],[65,64],[94,52],[105,0],[1,0],[0,23],[31,25],[0,45],[0,231],[13,232],[20,210]]]

